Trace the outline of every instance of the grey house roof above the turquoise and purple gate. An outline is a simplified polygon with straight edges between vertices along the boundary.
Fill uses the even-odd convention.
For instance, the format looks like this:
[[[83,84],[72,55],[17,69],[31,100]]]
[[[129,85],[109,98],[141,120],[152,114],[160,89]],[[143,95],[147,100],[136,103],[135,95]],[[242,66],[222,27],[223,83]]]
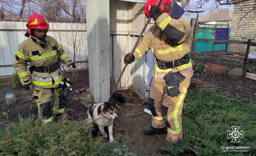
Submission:
[[[233,11],[229,9],[213,10],[210,13],[199,16],[199,22],[228,21],[232,19]]]

